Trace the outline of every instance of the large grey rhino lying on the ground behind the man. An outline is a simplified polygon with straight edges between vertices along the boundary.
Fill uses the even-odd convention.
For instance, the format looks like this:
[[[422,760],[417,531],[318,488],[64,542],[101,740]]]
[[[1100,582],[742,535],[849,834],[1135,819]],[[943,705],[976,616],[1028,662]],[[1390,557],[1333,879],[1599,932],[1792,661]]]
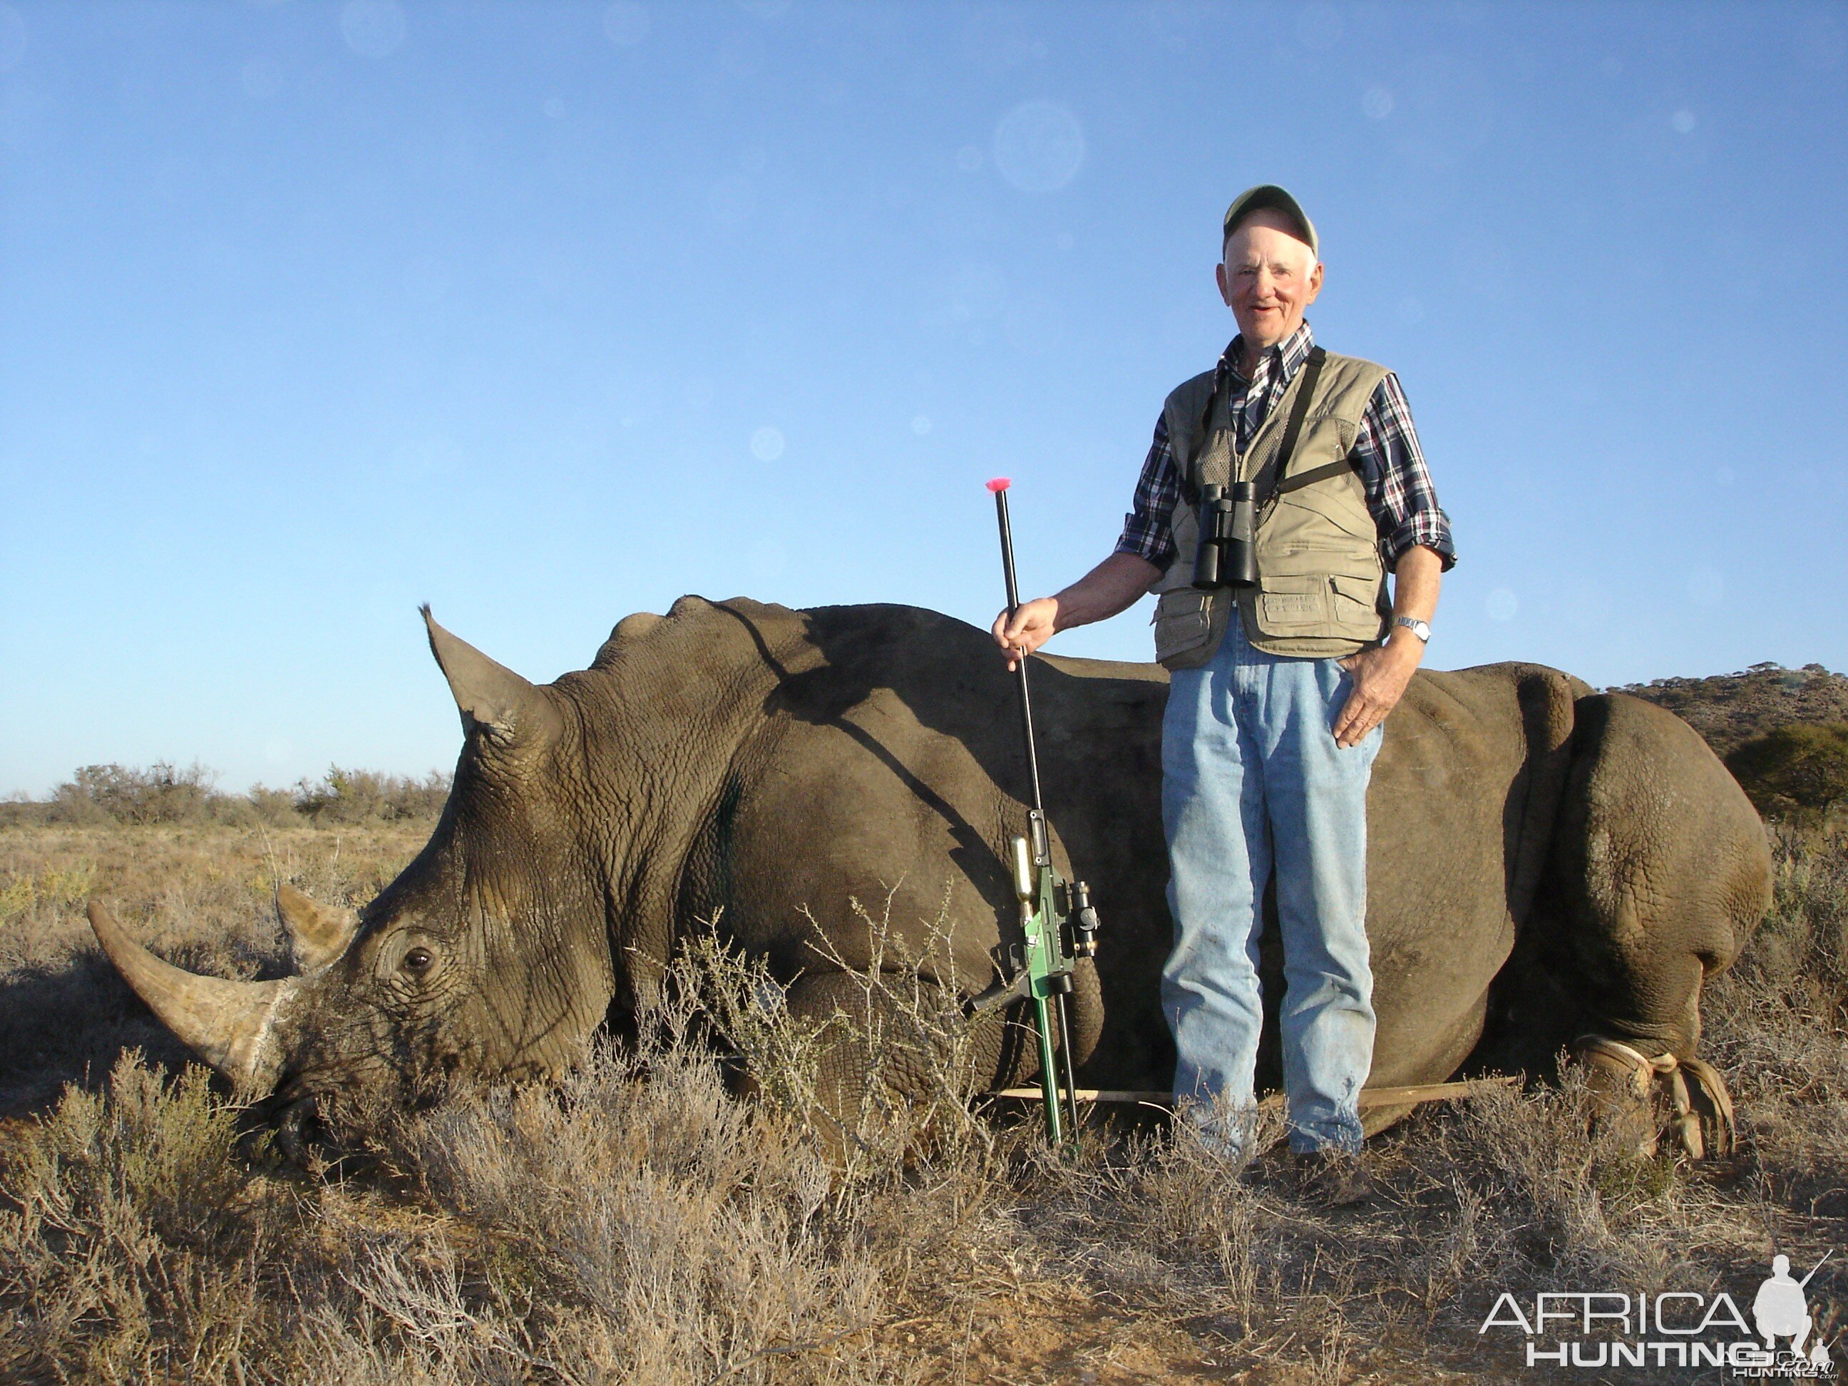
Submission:
[[[183,972],[92,902],[120,974],[240,1098],[554,1079],[599,1027],[636,1024],[711,920],[796,1016],[857,998],[850,968],[880,959],[959,994],[1000,979],[1027,780],[987,632],[909,606],[682,597],[534,686],[423,619],[462,715],[453,791],[357,915],[279,891],[298,976]],[[1031,671],[1055,865],[1105,920],[1072,994],[1079,1081],[1166,1088],[1166,675],[1042,654]],[[1658,1070],[1693,1061],[1702,983],[1769,904],[1763,824],[1693,728],[1541,665],[1419,673],[1368,815],[1369,1087],[1550,1072],[1587,1035]],[[850,907],[887,896],[896,950]],[[1262,972],[1275,1016],[1273,931]],[[981,1064],[1000,1087],[1037,1055],[994,1040]],[[869,1081],[850,1055],[824,1077],[826,1101]],[[1260,1083],[1279,1077],[1271,1033]],[[1368,1112],[1369,1133],[1403,1111]]]

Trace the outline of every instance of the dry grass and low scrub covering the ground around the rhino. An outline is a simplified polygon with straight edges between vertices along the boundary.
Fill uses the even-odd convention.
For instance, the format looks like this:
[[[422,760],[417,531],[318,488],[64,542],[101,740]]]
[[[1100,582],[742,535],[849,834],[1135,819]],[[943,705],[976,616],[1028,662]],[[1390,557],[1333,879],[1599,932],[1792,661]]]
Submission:
[[[0,1379],[1536,1380],[1477,1334],[1501,1290],[1743,1297],[1774,1246],[1848,1251],[1839,832],[1780,841],[1772,918],[1706,1000],[1735,1159],[1626,1159],[1576,1087],[1501,1090],[1369,1142],[1379,1192],[1340,1210],[1281,1153],[1236,1170],[1155,1122],[1066,1161],[1033,1112],[970,1120],[957,1040],[904,989],[826,1039],[924,1055],[931,1101],[870,1098],[841,1172],[809,1122],[824,1037],[715,948],[562,1090],[456,1098],[286,1166],[102,963],[81,898],[192,967],[274,974],[277,880],[360,902],[423,832],[0,830]],[[1831,1342],[1837,1260],[1809,1286]]]

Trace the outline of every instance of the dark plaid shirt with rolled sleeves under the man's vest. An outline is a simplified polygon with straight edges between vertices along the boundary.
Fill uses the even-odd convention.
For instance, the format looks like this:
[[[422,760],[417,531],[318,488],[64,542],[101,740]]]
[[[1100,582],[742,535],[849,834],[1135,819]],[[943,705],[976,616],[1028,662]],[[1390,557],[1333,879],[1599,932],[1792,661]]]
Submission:
[[[1220,364],[1225,370],[1225,388],[1231,392],[1233,432],[1238,451],[1244,453],[1251,434],[1258,431],[1270,416],[1290,381],[1308,360],[1308,349],[1316,338],[1305,322],[1286,342],[1264,353],[1257,370],[1247,381],[1238,373],[1238,357],[1244,338],[1234,336],[1225,347]],[[1360,416],[1360,432],[1355,436],[1353,460],[1360,469],[1360,482],[1366,488],[1368,510],[1373,512],[1373,525],[1380,536],[1380,558],[1388,571],[1399,556],[1423,543],[1436,549],[1449,571],[1456,564],[1456,549],[1451,543],[1451,517],[1438,508],[1438,492],[1430,484],[1430,471],[1425,469],[1425,455],[1417,447],[1417,431],[1412,427],[1412,407],[1404,403],[1404,390],[1399,377],[1386,371],[1386,379],[1373,390],[1366,412]],[[1181,495],[1181,469],[1168,445],[1166,412],[1155,419],[1155,442],[1149,445],[1148,460],[1142,464],[1142,477],[1137,480],[1133,508],[1124,516],[1124,534],[1116,540],[1116,553],[1133,553],[1146,558],[1155,567],[1166,569],[1173,562],[1173,503]]]

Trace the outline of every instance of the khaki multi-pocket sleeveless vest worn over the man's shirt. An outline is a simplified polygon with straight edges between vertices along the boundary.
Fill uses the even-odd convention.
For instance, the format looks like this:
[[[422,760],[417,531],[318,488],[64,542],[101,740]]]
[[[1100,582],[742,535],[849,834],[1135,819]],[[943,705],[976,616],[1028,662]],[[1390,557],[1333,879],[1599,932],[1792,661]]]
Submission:
[[[1386,368],[1325,353],[1288,471],[1275,477],[1279,445],[1308,375],[1308,364],[1297,368],[1244,456],[1233,451],[1227,392],[1214,392],[1214,371],[1196,375],[1168,395],[1168,440],[1183,479],[1192,477],[1196,486],[1255,480],[1260,503],[1258,586],[1199,591],[1194,588],[1199,514],[1188,501],[1199,492],[1183,484],[1173,506],[1175,556],[1149,588],[1159,593],[1155,658],[1168,669],[1198,669],[1212,658],[1234,599],[1246,638],[1266,654],[1342,658],[1377,641],[1384,630],[1392,604],[1379,530],[1347,455]],[[1209,401],[1212,414],[1205,418]],[[1297,486],[1277,490],[1292,479]]]

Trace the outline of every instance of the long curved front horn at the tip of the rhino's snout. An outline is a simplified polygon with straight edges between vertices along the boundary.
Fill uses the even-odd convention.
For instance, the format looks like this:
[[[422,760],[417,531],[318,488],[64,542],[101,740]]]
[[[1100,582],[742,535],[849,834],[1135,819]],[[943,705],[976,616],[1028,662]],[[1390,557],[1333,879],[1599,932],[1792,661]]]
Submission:
[[[277,1022],[299,981],[225,981],[163,963],[122,931],[102,900],[91,900],[91,928],[116,972],[188,1050],[231,1079],[238,1098],[270,1096],[283,1066]]]

